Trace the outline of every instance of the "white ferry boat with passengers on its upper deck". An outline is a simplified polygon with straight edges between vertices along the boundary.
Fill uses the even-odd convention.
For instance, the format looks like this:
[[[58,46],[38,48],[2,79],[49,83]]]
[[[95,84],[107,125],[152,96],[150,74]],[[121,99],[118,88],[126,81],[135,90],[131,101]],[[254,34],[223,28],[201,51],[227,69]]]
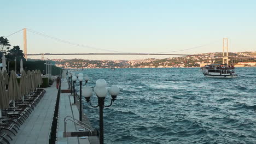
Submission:
[[[235,68],[227,64],[210,64],[201,68],[206,77],[233,78],[237,77]]]

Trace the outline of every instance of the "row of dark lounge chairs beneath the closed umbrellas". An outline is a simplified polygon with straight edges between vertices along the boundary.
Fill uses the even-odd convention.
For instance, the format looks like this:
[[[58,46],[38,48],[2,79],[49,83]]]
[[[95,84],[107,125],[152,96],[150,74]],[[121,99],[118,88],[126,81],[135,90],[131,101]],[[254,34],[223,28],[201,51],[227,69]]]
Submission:
[[[10,108],[2,110],[2,117],[0,118],[1,144],[9,144],[13,141],[21,125],[30,117],[44,94],[45,90],[38,88],[36,92],[30,92],[30,94],[26,95],[24,100],[10,101]]]

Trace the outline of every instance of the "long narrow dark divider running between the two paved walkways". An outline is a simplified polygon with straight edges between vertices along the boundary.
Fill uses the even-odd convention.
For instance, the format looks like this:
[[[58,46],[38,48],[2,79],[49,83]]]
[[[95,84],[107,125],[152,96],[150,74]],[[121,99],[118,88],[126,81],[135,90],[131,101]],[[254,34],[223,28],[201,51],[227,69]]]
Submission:
[[[59,109],[60,109],[61,78],[62,77],[60,76],[60,85],[59,85],[59,90],[58,90],[56,104],[55,104],[53,122],[51,123],[51,132],[50,132],[49,144],[55,144],[56,143],[57,123],[58,123]]]

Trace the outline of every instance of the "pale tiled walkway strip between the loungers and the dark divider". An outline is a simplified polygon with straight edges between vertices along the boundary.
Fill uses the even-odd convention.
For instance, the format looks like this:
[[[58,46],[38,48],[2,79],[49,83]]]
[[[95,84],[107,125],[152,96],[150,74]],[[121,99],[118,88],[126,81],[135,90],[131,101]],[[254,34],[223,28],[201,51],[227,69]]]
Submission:
[[[13,141],[10,141],[10,143],[49,143],[51,122],[53,121],[54,107],[57,98],[56,83],[44,89],[46,93],[43,98],[32,111],[30,117],[21,125],[18,134],[13,137]]]

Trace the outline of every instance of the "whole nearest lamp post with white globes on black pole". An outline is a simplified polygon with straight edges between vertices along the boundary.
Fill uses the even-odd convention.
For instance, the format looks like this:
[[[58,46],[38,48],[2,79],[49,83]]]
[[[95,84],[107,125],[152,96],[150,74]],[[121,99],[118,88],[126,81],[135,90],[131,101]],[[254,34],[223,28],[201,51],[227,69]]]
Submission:
[[[106,89],[107,83],[104,79],[99,79],[96,81],[96,87],[94,89],[95,94],[97,95],[98,98],[98,105],[93,106],[91,105],[91,100],[90,97],[92,95],[92,89],[90,87],[85,87],[84,88],[84,97],[91,105],[91,107],[99,107],[100,110],[100,144],[104,143],[104,130],[103,130],[103,108],[104,107],[109,107],[112,105],[113,101],[117,98],[117,95],[119,94],[119,88],[117,86],[112,86],[109,89],[109,93],[112,97],[111,102],[109,105],[104,105],[104,100],[105,97],[107,96],[108,90]]]

